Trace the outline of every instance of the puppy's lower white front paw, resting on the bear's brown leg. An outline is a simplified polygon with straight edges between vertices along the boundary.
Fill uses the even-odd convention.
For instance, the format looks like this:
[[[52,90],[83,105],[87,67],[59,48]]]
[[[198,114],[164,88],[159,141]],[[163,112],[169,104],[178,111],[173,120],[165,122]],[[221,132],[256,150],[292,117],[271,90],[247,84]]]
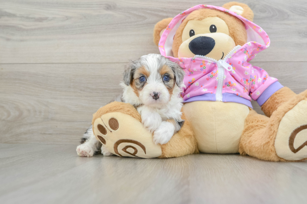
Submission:
[[[164,145],[173,137],[175,127],[172,123],[163,121],[161,125],[153,132],[153,142]]]

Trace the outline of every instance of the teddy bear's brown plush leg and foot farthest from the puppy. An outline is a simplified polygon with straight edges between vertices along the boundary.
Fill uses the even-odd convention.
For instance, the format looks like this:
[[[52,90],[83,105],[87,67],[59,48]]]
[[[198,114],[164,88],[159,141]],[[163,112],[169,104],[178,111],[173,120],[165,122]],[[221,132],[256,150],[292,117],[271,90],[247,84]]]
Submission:
[[[271,117],[251,110],[242,133],[240,154],[268,161],[307,158],[307,91],[280,105]]]

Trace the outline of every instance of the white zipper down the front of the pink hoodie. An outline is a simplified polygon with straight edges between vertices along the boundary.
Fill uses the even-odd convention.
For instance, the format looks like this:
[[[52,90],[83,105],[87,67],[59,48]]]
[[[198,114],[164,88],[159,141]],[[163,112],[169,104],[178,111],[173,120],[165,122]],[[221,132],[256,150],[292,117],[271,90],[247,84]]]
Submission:
[[[217,74],[217,87],[216,87],[216,93],[215,93],[215,97],[216,97],[216,101],[223,101],[223,82],[224,82],[224,75],[225,75],[225,69],[227,71],[232,71],[232,66],[229,65],[226,60],[235,52],[237,51],[239,48],[241,48],[241,45],[237,45],[236,47],[234,47],[225,57],[224,59],[220,59],[219,61],[211,58],[211,57],[206,57],[203,55],[195,55],[195,57],[199,57],[199,58],[203,58],[203,59],[207,59],[213,62],[216,62],[217,66],[218,66],[218,74]]]

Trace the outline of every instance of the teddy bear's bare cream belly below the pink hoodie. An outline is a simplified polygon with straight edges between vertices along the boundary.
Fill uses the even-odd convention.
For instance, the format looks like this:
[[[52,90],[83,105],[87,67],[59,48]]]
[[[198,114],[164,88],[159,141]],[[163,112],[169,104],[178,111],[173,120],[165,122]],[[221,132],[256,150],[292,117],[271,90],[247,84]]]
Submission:
[[[249,113],[246,105],[233,102],[195,101],[183,107],[203,153],[238,153]]]

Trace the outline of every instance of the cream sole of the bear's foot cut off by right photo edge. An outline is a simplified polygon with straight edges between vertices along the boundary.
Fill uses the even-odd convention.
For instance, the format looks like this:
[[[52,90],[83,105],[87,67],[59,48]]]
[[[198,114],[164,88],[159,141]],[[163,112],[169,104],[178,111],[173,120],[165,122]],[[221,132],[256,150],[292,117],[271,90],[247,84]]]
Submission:
[[[298,102],[281,119],[274,146],[277,156],[285,160],[307,158],[307,99]]]

